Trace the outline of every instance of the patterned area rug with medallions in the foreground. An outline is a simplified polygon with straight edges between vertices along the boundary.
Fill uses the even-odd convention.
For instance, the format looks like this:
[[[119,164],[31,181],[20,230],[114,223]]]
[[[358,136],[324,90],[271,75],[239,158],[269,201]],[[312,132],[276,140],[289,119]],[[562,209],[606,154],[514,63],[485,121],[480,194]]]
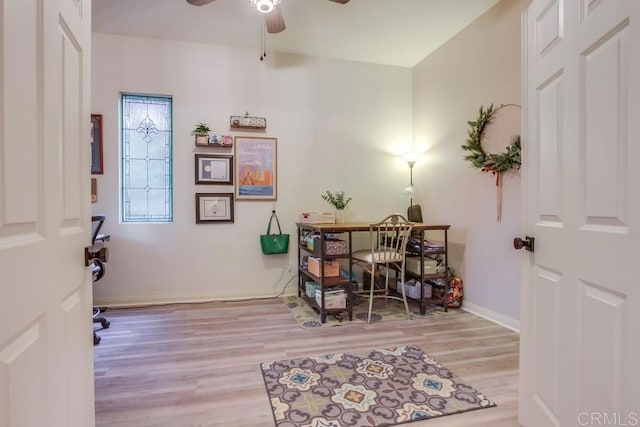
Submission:
[[[415,346],[261,368],[277,427],[394,426],[495,406]]]

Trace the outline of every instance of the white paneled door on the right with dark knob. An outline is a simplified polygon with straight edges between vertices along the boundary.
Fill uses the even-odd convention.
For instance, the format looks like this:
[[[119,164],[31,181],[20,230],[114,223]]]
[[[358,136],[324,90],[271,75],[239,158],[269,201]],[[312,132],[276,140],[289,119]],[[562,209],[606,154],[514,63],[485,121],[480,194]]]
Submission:
[[[640,425],[640,1],[524,16],[520,422]]]

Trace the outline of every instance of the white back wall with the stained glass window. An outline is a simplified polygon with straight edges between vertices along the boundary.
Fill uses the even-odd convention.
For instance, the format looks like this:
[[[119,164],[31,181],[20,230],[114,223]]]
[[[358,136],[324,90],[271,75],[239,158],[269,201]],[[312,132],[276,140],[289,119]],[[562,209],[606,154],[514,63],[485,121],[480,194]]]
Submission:
[[[267,118],[258,134],[278,138],[276,209],[294,239],[298,213],[330,210],[320,198],[327,189],[353,196],[348,220],[406,209],[408,168],[395,154],[411,143],[410,69],[271,52],[260,62],[257,48],[106,34],[94,34],[92,54],[92,110],[104,115],[105,143],[93,210],[107,215],[112,236],[97,304],[271,296],[292,276],[295,241],[288,257],[260,251],[273,202],[237,201],[233,224],[195,224],[196,192],[233,191],[194,185],[190,132],[201,121],[216,133],[255,135],[230,132],[229,116]],[[120,92],[173,96],[172,224],[118,221]]]

